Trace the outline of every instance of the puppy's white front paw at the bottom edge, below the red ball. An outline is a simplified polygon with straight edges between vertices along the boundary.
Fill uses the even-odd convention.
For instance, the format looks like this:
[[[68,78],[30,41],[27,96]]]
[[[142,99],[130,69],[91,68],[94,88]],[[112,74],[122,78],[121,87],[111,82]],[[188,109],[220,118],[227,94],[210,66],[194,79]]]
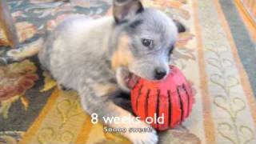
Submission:
[[[130,133],[127,136],[134,144],[156,144],[158,143],[158,134],[154,129],[151,132]]]

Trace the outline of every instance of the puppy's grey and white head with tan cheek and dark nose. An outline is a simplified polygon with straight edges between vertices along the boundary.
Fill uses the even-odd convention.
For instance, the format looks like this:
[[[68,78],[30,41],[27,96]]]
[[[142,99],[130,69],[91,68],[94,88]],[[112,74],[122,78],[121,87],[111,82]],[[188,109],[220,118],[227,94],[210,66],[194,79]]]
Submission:
[[[160,80],[169,73],[170,54],[184,26],[159,10],[144,8],[139,0],[114,0],[116,50],[112,67]]]

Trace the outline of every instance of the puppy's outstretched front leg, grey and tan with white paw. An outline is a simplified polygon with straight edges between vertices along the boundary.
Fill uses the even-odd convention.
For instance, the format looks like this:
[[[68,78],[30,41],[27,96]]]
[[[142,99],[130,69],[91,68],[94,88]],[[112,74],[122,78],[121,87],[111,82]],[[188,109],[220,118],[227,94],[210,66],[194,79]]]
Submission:
[[[106,84],[104,85],[106,86]],[[105,91],[102,91],[105,90]],[[82,106],[89,114],[97,114],[98,119],[101,122],[104,122],[104,118],[134,118],[130,112],[123,110],[121,107],[117,106],[110,100],[111,94],[114,94],[114,91],[102,88],[101,91],[98,91],[97,88],[91,87],[91,84],[84,83],[80,86],[78,93],[82,97]],[[115,91],[116,92],[116,91]],[[130,139],[134,144],[155,144],[158,142],[158,136],[156,131],[145,122],[106,122],[107,126],[113,128],[126,128],[125,133],[121,133],[126,138]],[[130,128],[149,128],[150,132],[129,132]]]

